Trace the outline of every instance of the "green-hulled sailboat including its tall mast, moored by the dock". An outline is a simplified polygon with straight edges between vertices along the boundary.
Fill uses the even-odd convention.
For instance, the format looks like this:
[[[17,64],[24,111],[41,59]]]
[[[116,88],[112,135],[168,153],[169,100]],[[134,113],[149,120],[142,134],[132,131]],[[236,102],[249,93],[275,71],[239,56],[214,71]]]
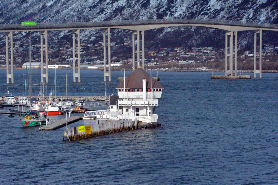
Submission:
[[[31,100],[31,38],[29,38],[29,99]],[[20,121],[23,127],[27,126],[43,126],[47,125],[47,115],[42,112],[33,112],[31,110],[31,103],[29,104],[29,110],[20,117]]]

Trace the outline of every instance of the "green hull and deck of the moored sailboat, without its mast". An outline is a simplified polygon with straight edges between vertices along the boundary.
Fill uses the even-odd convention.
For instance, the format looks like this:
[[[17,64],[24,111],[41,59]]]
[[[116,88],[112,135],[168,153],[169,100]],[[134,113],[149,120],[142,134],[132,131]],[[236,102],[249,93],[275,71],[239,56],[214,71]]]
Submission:
[[[44,117],[43,113],[32,112],[32,110],[27,111],[21,118],[20,121],[22,126],[43,126],[47,125],[47,118]]]

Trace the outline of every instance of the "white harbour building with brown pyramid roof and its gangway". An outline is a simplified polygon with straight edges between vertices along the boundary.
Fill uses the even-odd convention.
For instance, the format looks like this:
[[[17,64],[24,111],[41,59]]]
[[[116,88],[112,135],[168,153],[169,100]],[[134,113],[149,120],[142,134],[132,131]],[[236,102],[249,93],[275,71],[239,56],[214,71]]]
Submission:
[[[84,118],[96,116],[105,120],[138,120],[142,125],[157,126],[154,114],[164,87],[138,66],[116,86],[118,96],[110,96],[109,109],[88,111]]]

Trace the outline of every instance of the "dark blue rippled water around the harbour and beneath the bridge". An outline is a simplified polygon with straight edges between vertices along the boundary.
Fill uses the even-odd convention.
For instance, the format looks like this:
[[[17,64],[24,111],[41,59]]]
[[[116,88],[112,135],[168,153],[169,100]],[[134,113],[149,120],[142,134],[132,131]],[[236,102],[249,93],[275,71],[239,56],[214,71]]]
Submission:
[[[3,95],[5,70],[0,73]],[[23,70],[15,73],[16,84],[9,86],[20,93]],[[103,72],[82,70],[82,82],[72,84],[72,71],[57,70],[61,92],[65,73],[70,91],[104,94]],[[246,80],[210,75],[160,72],[165,89],[156,129],[63,142],[64,128],[22,128],[19,117],[0,116],[0,184],[277,184],[278,74]],[[112,72],[110,94],[118,76],[123,72]]]

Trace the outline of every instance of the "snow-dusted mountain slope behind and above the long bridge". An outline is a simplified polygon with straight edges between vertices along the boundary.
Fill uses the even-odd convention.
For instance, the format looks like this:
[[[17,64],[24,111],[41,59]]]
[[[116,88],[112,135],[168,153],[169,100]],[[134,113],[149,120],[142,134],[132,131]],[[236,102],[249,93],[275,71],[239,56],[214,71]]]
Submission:
[[[21,21],[79,22],[110,21],[129,19],[172,19],[198,18],[214,20],[236,20],[249,22],[278,23],[278,1],[276,0],[1,0],[0,24],[19,24]],[[251,32],[239,35],[240,44],[246,45],[252,39]],[[38,32],[15,34],[15,42]],[[69,42],[71,31],[52,31],[49,39]],[[114,31],[117,37],[130,37],[129,32]],[[224,34],[207,28],[173,27],[147,31],[146,42],[161,38],[180,40],[196,45],[211,44],[222,47]],[[276,33],[266,32],[264,42],[277,42]],[[100,30],[83,30],[81,39],[96,40]],[[99,37],[101,38],[101,37]],[[266,40],[267,38],[267,40]],[[39,40],[39,37],[38,37]],[[115,40],[117,41],[117,40]],[[1,43],[4,42],[2,37]],[[172,42],[172,41],[171,41]],[[171,43],[170,42],[170,43]],[[168,43],[168,42],[167,42]],[[177,43],[176,41],[174,43]],[[275,43],[274,43],[275,44]]]

